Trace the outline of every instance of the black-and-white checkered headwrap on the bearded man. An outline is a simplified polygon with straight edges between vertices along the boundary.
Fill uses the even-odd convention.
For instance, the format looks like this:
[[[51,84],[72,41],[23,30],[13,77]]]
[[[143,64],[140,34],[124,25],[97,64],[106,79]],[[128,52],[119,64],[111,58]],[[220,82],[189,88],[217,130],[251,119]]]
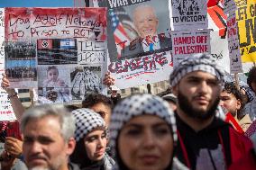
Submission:
[[[211,55],[199,54],[183,59],[177,67],[173,68],[169,76],[171,86],[178,84],[179,80],[193,71],[204,71],[217,77],[221,85],[224,85],[224,69],[216,64]]]

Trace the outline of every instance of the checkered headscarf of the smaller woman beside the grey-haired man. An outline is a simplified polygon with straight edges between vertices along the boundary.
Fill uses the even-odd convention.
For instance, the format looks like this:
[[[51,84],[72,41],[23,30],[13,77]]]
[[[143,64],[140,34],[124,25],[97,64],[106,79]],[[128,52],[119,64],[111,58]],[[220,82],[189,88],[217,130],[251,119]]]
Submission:
[[[87,136],[89,132],[98,127],[105,127],[105,121],[96,112],[82,108],[72,111],[76,119],[75,139],[79,141]]]

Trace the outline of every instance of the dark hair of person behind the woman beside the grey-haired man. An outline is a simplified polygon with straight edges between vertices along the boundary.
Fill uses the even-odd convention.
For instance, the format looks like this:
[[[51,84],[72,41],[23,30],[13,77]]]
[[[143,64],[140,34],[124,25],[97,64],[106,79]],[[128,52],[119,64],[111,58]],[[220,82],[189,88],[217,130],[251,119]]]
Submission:
[[[96,103],[104,103],[106,106],[109,106],[113,109],[114,105],[110,97],[107,97],[103,94],[88,94],[85,100],[82,102],[83,108],[90,108],[94,106]]]

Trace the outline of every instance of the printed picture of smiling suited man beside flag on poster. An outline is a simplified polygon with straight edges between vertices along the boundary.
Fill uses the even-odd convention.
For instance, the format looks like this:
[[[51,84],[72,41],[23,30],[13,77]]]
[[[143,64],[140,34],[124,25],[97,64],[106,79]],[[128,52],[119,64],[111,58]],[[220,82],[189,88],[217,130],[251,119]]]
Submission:
[[[125,1],[120,4],[107,1],[99,4],[109,7],[108,32],[113,34],[108,36],[111,62],[171,49],[168,1]]]

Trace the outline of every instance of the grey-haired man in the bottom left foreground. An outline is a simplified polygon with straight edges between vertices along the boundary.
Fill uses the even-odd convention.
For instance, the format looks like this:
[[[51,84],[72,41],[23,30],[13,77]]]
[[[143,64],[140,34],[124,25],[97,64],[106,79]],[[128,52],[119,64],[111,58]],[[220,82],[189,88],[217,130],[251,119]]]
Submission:
[[[35,106],[23,114],[23,157],[29,170],[78,170],[69,164],[75,120],[63,105]]]

